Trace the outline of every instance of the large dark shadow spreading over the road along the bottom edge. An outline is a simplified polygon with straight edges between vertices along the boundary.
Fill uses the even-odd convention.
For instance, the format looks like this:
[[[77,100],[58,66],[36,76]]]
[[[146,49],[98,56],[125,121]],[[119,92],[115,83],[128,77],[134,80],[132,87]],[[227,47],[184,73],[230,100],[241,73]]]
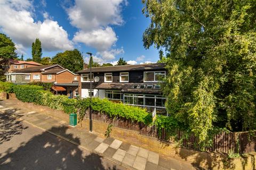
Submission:
[[[67,129],[60,126],[50,131],[66,132]],[[66,137],[80,143],[71,134],[66,134]],[[5,154],[0,158],[0,169],[118,169],[101,156],[81,150],[47,132],[34,136],[16,150],[9,148]]]

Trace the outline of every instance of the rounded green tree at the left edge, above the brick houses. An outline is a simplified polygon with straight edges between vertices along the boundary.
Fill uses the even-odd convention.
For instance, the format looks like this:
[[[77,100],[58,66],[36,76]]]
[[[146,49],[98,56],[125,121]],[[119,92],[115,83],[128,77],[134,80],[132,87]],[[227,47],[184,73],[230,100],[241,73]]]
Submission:
[[[17,58],[15,53],[15,44],[4,33],[0,33],[0,57],[1,58]]]

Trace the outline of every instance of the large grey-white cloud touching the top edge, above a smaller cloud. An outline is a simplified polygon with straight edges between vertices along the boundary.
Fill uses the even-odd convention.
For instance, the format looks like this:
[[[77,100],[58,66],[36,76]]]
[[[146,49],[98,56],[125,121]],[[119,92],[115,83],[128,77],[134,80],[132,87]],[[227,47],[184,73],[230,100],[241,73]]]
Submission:
[[[70,22],[83,31],[92,31],[109,24],[120,25],[123,0],[76,0],[75,5],[67,8]]]

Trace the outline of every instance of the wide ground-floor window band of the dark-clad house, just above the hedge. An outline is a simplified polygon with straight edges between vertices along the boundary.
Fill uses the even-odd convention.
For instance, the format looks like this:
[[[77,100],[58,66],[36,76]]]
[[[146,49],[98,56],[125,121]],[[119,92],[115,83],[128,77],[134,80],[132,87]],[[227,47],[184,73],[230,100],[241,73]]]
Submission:
[[[156,109],[158,113],[162,114],[166,114],[165,100],[166,98],[159,95],[124,94],[124,104],[144,107],[149,112]]]

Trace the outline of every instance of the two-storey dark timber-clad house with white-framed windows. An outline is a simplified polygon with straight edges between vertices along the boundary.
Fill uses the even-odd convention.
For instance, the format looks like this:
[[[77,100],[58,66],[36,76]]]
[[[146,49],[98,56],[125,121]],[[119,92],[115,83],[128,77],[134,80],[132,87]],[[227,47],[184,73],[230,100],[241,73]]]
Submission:
[[[154,109],[166,114],[165,98],[158,82],[166,75],[163,63],[92,67],[78,71],[78,91],[81,97],[108,98],[127,105],[145,107],[149,112]],[[90,79],[92,77],[92,91]],[[98,82],[97,82],[98,79]]]

